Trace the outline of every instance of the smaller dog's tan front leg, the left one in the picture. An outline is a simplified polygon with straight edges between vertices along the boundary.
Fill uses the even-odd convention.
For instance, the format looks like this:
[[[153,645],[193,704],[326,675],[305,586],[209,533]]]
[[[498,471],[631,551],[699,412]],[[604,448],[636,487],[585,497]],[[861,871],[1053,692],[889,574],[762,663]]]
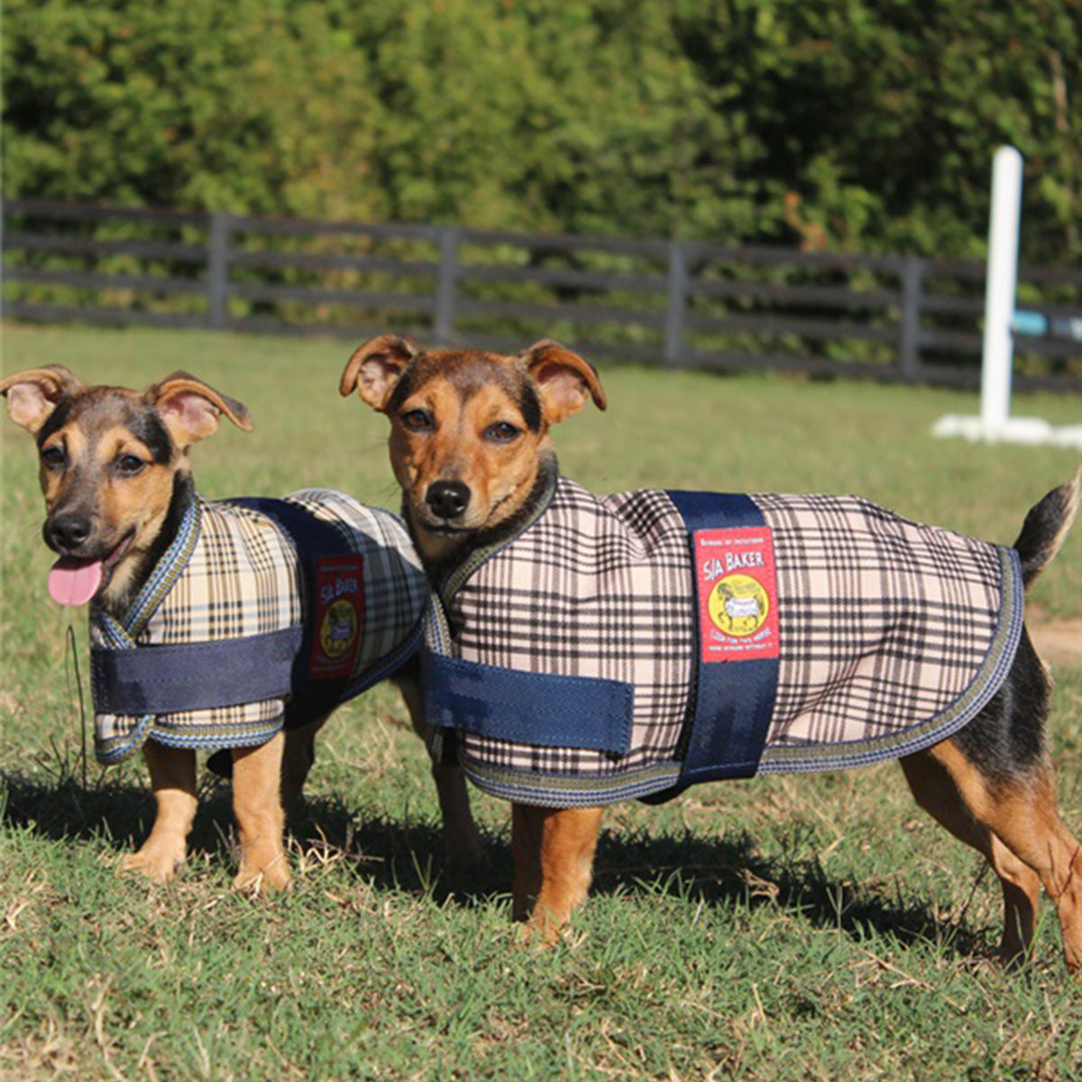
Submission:
[[[196,817],[196,753],[147,740],[143,757],[150,770],[158,813],[150,836],[137,852],[123,858],[120,871],[140,871],[156,883],[164,883],[176,874],[187,854],[188,832]]]

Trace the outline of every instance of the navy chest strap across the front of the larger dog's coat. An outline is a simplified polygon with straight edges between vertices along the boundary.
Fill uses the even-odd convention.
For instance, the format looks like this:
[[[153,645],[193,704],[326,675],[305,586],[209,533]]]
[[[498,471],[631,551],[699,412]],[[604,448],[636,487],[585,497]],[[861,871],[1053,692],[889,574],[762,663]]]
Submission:
[[[634,688],[596,676],[559,676],[421,651],[430,725],[541,748],[631,749]]]

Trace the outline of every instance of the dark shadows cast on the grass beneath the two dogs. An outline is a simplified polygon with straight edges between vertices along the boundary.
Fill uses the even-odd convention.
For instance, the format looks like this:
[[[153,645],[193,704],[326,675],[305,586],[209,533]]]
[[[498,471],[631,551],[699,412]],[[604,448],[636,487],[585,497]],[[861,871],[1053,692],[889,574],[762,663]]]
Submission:
[[[0,827],[53,840],[93,840],[118,853],[136,848],[149,833],[154,802],[148,790],[123,779],[83,788],[70,776],[43,782],[0,774]],[[353,874],[386,890],[431,897],[436,903],[473,907],[511,889],[511,855],[505,839],[486,836],[480,866],[461,868],[444,857],[435,822],[401,822],[337,799],[306,800],[290,816],[289,834],[317,861],[344,861]],[[227,784],[209,780],[189,840],[233,867],[236,827]],[[295,855],[295,849],[294,849]],[[871,933],[902,944],[937,942],[956,958],[992,953],[981,929],[965,918],[945,928],[919,900],[889,898],[850,880],[828,875],[816,860],[782,855],[764,858],[748,834],[722,839],[694,834],[603,832],[592,893],[664,894],[711,907],[780,907],[818,927],[840,928],[855,939]]]

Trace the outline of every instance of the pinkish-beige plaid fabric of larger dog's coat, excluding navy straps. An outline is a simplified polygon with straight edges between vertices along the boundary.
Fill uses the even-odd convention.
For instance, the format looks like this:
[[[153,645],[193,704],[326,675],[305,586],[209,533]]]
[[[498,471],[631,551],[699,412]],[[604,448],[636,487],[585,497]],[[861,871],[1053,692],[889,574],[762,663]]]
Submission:
[[[751,499],[773,530],[781,648],[760,773],[913,751],[987,702],[1020,635],[1013,550],[854,497]],[[456,658],[634,688],[619,757],[460,730],[460,758],[483,789],[597,803],[672,784],[698,643],[690,542],[665,492],[598,499],[560,478],[544,514],[446,606]]]

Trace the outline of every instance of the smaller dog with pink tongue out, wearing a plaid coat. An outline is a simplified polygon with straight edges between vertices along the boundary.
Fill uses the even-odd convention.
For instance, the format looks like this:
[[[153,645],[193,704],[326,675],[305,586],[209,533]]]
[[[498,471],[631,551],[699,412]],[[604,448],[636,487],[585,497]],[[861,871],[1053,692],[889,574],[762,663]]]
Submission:
[[[303,639],[303,649],[313,658],[313,667],[319,662],[326,679],[339,683],[329,690],[326,679],[317,686],[306,673],[302,691],[293,661],[301,626],[316,611],[308,604],[311,596],[304,595],[315,593],[317,583],[300,568],[304,557],[298,555],[296,535],[262,510],[233,501],[207,503],[194,489],[188,451],[216,430],[219,417],[224,414],[245,432],[252,430],[240,403],[185,372],[138,393],[85,386],[58,366],[10,375],[0,382],[0,393],[6,397],[12,419],[37,443],[47,507],[42,535],[60,556],[50,572],[50,593],[62,604],[91,603],[96,636],[92,661],[100,656],[106,665],[120,665],[133,658],[149,659],[148,672],[140,679],[150,685],[166,681],[164,659],[171,652],[179,658],[174,661],[179,698],[160,711],[138,710],[146,716],[134,726],[127,715],[136,711],[98,703],[104,676],[100,681],[95,670],[98,757],[116,762],[142,745],[157,803],[150,835],[136,853],[124,857],[121,870],[141,871],[158,882],[174,875],[185,859],[196,812],[196,748],[225,748],[232,754],[224,762],[222,755],[215,757],[224,767],[221,773],[233,776],[241,849],[235,886],[287,887],[290,872],[282,848],[282,799],[288,804],[300,795],[314,760],[316,731],[334,705],[362,689],[361,683],[368,686],[388,675],[412,649],[405,624],[393,622],[404,613],[409,616],[400,597],[412,581],[405,531],[396,538],[394,516],[325,490],[294,493],[299,499],[289,498],[293,502],[263,501],[277,509],[276,514],[293,516],[289,522],[300,520],[305,530],[322,529],[317,535],[320,541],[326,541],[327,527],[309,512],[315,507],[326,517],[341,509],[342,516],[333,519],[330,532],[353,531],[351,538],[360,545],[356,551],[364,553],[355,558],[337,555],[333,559],[345,563],[328,563],[330,570],[320,572],[328,575],[337,567],[334,582],[340,592],[356,592],[359,575],[368,601],[353,609],[343,607],[341,597],[328,598],[322,628],[315,635],[322,635],[320,645],[309,636]],[[194,522],[198,522],[195,528]],[[366,533],[369,528],[371,537]],[[168,593],[155,595],[154,616],[137,625],[126,624],[189,535],[187,564],[181,568],[177,560],[180,577]],[[248,577],[242,579],[245,559],[252,554],[254,570],[245,570]],[[194,578],[197,565],[199,579]],[[379,579],[381,575],[385,578]],[[420,583],[420,589],[411,588],[417,625],[426,591],[420,569],[414,578]],[[275,594],[265,589],[268,582],[276,588]],[[324,579],[318,588],[325,588]],[[173,598],[182,593],[196,615],[188,616],[179,602],[174,605]],[[151,631],[151,619],[167,610],[179,613],[174,623]],[[278,623],[260,623],[272,618]],[[381,620],[382,629],[377,626]],[[264,651],[242,658],[226,655],[234,672],[219,681],[225,687],[215,692],[219,697],[213,703],[192,699],[192,691],[206,694],[207,685],[223,670],[223,656],[200,654],[203,642],[174,645],[181,632],[190,631],[197,621],[209,632],[194,634],[194,638],[228,637],[230,644],[245,638]],[[123,639],[128,631],[130,641],[114,642],[118,636]],[[361,658],[366,642],[377,631],[385,632],[382,652],[370,658],[367,675],[358,682],[360,662],[355,661],[346,673],[345,660]],[[107,649],[118,645],[122,648]],[[133,648],[144,645],[145,650]],[[353,654],[347,652],[349,648]],[[195,652],[185,655],[185,649]],[[273,676],[274,686],[265,676]],[[236,685],[241,677],[250,685],[243,691]],[[347,679],[354,681],[348,688]],[[413,681],[403,675],[399,683],[410,713],[421,724]],[[103,725],[108,727],[105,736]],[[477,836],[461,775],[452,767],[438,767],[435,777],[451,846],[458,855],[471,855]]]

